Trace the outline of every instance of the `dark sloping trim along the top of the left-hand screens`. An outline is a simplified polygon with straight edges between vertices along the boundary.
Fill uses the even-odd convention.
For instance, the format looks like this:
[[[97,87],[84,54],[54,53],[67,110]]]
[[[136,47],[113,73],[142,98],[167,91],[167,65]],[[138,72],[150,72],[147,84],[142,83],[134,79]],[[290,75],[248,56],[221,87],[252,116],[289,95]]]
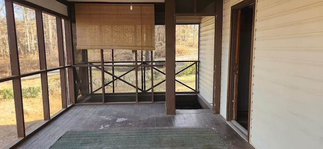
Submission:
[[[49,10],[49,9],[46,9],[44,7],[41,7],[39,5],[36,5],[36,4],[33,4],[33,3],[30,3],[28,1],[24,1],[24,0],[11,0],[11,1],[14,1],[15,3],[21,5],[21,6],[24,6],[24,7],[28,7],[30,9],[34,9],[34,10],[40,10],[40,11],[44,11],[46,13],[49,13],[49,14],[52,14],[52,15],[55,15],[55,16],[58,16],[58,17],[62,17],[62,18],[65,18],[65,19],[69,19],[68,16],[65,16],[63,14],[60,14],[60,13],[57,13],[55,11],[52,11],[52,10]]]

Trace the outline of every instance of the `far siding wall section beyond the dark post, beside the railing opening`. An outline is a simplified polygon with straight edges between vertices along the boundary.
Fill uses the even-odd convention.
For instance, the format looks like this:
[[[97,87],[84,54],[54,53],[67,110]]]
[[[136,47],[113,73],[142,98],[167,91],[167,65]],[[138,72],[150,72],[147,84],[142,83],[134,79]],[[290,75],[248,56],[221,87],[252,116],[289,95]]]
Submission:
[[[215,17],[203,17],[200,24],[198,87],[208,103],[213,103],[214,23]]]

